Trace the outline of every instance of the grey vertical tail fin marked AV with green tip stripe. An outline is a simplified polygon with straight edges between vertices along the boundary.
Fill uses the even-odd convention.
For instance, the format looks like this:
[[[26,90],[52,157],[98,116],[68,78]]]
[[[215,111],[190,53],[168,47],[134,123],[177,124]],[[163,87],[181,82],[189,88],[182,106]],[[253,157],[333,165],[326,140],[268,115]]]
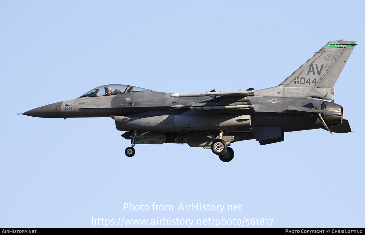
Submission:
[[[333,88],[357,41],[330,41],[279,86]]]

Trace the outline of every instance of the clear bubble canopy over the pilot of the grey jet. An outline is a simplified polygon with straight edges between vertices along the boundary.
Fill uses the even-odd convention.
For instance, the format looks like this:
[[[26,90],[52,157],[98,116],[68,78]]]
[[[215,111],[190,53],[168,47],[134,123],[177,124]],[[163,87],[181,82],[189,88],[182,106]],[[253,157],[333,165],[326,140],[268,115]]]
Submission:
[[[138,92],[138,91],[151,91],[149,89],[141,88],[138,86],[131,85],[121,85],[121,84],[109,84],[104,86],[98,86],[80,97],[94,97],[94,96],[110,96],[110,95],[118,95],[129,92]]]

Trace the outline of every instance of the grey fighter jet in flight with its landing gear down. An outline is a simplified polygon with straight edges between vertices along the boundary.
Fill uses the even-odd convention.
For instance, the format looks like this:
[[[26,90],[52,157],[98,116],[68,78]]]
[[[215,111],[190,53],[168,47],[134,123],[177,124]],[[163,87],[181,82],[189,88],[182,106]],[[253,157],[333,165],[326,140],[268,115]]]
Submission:
[[[350,132],[343,109],[331,100],[334,85],[357,41],[330,41],[278,86],[254,90],[163,93],[132,85],[99,86],[72,100],[23,114],[40,118],[111,117],[122,136],[136,144],[188,144],[211,149],[223,162],[231,143],[284,141],[287,131],[322,128]]]

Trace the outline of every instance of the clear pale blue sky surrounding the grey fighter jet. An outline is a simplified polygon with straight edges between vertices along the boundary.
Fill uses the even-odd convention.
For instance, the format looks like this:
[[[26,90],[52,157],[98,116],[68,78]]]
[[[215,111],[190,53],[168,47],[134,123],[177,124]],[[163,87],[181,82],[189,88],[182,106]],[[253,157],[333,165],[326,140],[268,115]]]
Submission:
[[[105,227],[92,218],[124,217],[148,222],[107,227],[185,228],[193,220],[191,227],[363,228],[364,13],[361,1],[342,4],[1,1],[0,227]],[[104,84],[172,93],[272,87],[341,39],[359,42],[334,87],[353,132],[236,142],[228,163],[178,144],[137,145],[127,158],[130,142],[111,118],[10,115]],[[129,211],[124,203],[150,208]],[[154,211],[153,203],[173,211]],[[180,204],[242,210],[182,211]],[[185,224],[148,225],[164,217]],[[196,224],[222,218],[226,225]],[[271,226],[228,224],[261,218]]]

